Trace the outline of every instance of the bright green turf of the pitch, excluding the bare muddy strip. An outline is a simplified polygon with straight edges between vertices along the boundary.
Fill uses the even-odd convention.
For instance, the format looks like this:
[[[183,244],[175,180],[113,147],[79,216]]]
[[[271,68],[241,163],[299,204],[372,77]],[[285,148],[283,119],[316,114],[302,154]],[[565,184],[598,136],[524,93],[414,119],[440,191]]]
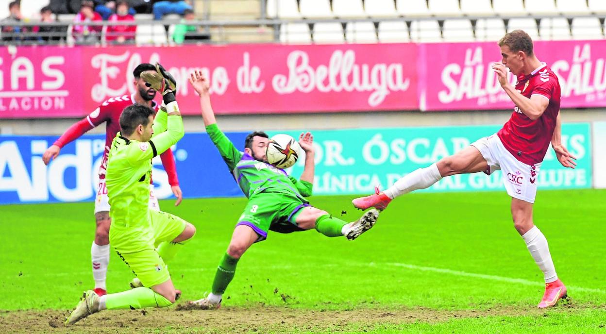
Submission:
[[[353,220],[359,211],[351,207],[351,197],[316,196],[311,204]],[[162,201],[161,207],[198,229],[171,264],[173,281],[185,299],[198,298],[210,289],[245,199],[188,199],[179,207],[172,203]],[[239,262],[224,306],[534,307],[544,289],[542,273],[513,229],[509,203],[504,192],[411,194],[392,202],[375,229],[353,242],[313,230],[270,233]],[[92,287],[92,210],[91,203],[0,206],[0,309],[68,309],[82,290]],[[576,306],[606,304],[605,212],[604,190],[539,192],[535,223],[547,236],[559,277]],[[131,278],[112,254],[108,290],[124,290]],[[579,313],[578,321],[591,316]],[[521,315],[512,319],[510,332],[528,321],[548,326],[563,317],[556,313],[528,320]],[[431,330],[501,322],[462,319],[432,325]],[[422,323],[410,326],[405,330],[430,329]]]

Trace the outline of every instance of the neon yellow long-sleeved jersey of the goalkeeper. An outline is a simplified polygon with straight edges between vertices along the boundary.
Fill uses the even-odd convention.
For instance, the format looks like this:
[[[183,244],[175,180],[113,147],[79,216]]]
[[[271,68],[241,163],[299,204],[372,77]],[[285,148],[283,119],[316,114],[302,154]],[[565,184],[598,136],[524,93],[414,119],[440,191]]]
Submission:
[[[172,102],[174,103],[174,102]],[[176,105],[168,105],[175,108]],[[148,222],[151,158],[176,144],[184,135],[181,116],[159,111],[153,123],[154,135],[148,142],[124,138],[118,132],[107,159],[107,196],[112,226],[143,230]]]

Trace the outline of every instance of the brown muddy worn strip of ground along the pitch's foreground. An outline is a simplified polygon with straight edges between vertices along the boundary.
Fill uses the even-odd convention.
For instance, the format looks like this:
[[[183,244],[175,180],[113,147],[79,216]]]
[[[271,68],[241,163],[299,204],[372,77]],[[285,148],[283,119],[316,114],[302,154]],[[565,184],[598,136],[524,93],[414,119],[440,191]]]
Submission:
[[[581,309],[565,306],[561,312]],[[353,309],[307,310],[290,307],[224,307],[219,310],[147,309],[97,313],[71,327],[63,321],[68,311],[28,310],[0,313],[0,333],[250,333],[344,332],[360,326],[442,322],[453,318],[484,316],[542,316],[534,308],[499,307],[488,310]],[[352,327],[355,326],[355,327]]]

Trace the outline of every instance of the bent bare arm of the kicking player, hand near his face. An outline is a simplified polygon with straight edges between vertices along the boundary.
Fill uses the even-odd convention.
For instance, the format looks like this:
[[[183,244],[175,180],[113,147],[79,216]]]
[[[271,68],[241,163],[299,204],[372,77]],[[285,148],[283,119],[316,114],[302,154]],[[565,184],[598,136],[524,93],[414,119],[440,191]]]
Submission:
[[[543,115],[547,106],[549,105],[549,99],[547,96],[534,94],[530,96],[530,99],[526,96],[522,95],[522,93],[516,90],[516,87],[513,87],[507,80],[507,69],[500,62],[495,62],[492,65],[494,72],[496,72],[497,78],[499,79],[499,84],[505,90],[505,93],[509,96],[511,101],[513,101],[516,106],[520,109],[524,115],[528,116],[528,118],[538,119]]]

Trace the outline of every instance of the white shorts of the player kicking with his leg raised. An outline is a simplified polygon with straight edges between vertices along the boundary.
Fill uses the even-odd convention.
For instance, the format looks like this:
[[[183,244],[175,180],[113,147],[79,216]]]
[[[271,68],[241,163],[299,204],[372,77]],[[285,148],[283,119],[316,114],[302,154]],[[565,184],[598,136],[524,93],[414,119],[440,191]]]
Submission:
[[[488,175],[495,170],[503,173],[503,182],[509,196],[522,201],[534,203],[536,182],[541,164],[527,165],[519,161],[505,149],[497,135],[488,136],[473,142],[471,146],[478,149],[488,162]]]

